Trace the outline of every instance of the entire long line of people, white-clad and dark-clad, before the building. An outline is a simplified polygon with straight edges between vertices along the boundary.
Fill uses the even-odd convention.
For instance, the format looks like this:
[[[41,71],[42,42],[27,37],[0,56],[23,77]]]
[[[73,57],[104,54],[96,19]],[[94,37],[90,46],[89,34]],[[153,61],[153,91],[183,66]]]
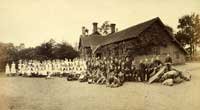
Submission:
[[[19,61],[15,69],[15,63],[6,65],[7,76],[52,76],[66,77],[68,81],[79,80],[88,84],[106,84],[108,87],[122,86],[125,81],[148,81],[151,76],[166,65],[170,71],[172,58],[168,55],[165,63],[159,56],[151,59],[143,59],[136,63],[134,58],[109,57],[87,58],[86,60],[75,58],[73,60],[46,60],[46,61]]]

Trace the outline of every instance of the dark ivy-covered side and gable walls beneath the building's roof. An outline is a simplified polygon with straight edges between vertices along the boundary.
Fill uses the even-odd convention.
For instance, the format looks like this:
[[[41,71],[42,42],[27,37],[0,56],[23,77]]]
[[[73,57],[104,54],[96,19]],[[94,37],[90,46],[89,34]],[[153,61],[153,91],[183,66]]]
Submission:
[[[185,63],[185,54],[159,23],[153,24],[138,38],[103,46],[96,53],[101,54],[103,57],[129,55],[135,57],[138,62],[145,58],[151,59],[156,55],[159,55],[160,59],[164,61],[167,54],[170,54],[173,63]]]

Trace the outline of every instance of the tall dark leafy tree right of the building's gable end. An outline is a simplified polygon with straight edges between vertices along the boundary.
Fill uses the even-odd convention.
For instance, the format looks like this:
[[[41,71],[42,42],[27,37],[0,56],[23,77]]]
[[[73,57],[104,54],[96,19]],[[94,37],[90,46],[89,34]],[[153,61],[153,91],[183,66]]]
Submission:
[[[200,43],[200,18],[198,14],[184,15],[178,20],[176,39],[194,56]]]

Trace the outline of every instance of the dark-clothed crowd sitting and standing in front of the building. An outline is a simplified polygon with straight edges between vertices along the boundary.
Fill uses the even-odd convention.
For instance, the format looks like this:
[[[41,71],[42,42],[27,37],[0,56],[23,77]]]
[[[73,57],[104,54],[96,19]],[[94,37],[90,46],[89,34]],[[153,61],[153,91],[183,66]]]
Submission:
[[[89,84],[106,84],[108,87],[119,87],[125,81],[148,81],[159,69],[166,65],[167,71],[171,70],[172,58],[168,55],[165,63],[159,56],[151,59],[140,60],[136,63],[134,58],[91,58],[86,61],[87,70],[79,78]]]

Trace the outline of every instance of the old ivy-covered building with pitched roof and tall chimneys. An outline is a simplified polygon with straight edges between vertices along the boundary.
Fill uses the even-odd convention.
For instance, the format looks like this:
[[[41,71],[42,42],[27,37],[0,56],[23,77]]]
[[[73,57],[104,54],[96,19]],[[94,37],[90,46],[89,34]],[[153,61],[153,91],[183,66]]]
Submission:
[[[79,51],[81,57],[131,56],[136,61],[156,55],[164,60],[170,54],[173,63],[185,63],[187,55],[158,17],[118,32],[115,32],[115,24],[111,24],[111,33],[106,36],[101,35],[97,23],[93,23],[92,34],[80,36]]]

